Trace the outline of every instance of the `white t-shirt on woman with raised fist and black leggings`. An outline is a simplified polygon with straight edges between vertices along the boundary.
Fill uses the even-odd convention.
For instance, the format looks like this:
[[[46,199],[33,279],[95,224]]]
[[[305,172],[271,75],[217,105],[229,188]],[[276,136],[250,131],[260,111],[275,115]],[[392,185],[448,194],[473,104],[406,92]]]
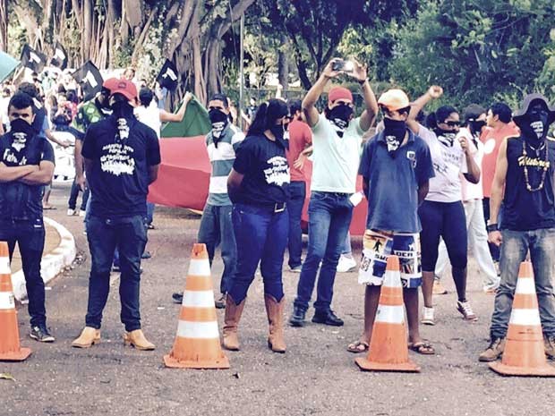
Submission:
[[[468,173],[465,151],[458,140],[453,140],[453,146],[446,146],[434,132],[420,124],[420,136],[430,148],[431,163],[436,175],[430,179],[430,191],[426,200],[435,202],[457,202],[461,200],[461,178],[459,174]]]

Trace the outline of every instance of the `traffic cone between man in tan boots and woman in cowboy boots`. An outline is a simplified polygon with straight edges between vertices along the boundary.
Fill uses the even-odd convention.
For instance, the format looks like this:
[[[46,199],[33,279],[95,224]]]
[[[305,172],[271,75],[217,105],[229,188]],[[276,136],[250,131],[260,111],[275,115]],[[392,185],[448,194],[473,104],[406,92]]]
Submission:
[[[177,335],[164,363],[176,369],[229,369],[219,342],[210,263],[204,244],[192,247]]]

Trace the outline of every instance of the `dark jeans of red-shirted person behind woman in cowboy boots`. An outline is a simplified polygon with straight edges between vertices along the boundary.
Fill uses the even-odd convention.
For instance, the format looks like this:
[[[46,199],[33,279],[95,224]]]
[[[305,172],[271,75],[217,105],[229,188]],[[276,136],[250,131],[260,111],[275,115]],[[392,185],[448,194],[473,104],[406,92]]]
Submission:
[[[289,183],[287,211],[289,212],[289,267],[291,268],[301,266],[301,254],[303,253],[303,230],[301,229],[301,216],[303,214],[305,198],[305,182],[294,181]]]

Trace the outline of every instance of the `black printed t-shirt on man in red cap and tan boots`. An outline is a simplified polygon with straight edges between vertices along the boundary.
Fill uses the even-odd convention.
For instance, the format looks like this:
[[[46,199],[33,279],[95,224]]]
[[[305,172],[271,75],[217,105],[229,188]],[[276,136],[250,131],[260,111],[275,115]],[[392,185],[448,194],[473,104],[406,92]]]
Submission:
[[[146,215],[149,167],[160,163],[154,130],[137,120],[110,115],[90,124],[81,154],[92,161],[87,171],[91,215]]]

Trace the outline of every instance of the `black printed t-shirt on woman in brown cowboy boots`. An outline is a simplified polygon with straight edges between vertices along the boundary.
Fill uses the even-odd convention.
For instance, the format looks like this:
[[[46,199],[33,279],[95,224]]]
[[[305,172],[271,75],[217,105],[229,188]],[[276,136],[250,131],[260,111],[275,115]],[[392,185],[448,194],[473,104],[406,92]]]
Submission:
[[[247,136],[236,151],[233,167],[244,177],[232,202],[271,207],[287,200],[289,165],[280,141],[263,134]]]

